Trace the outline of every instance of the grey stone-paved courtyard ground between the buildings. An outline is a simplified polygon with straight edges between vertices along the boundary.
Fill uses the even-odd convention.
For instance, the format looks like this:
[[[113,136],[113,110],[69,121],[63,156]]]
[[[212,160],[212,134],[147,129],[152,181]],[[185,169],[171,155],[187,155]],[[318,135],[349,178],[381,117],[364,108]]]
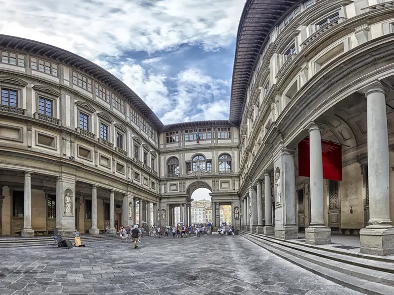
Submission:
[[[83,242],[83,241],[82,241]],[[241,236],[0,249],[0,294],[359,295]]]

